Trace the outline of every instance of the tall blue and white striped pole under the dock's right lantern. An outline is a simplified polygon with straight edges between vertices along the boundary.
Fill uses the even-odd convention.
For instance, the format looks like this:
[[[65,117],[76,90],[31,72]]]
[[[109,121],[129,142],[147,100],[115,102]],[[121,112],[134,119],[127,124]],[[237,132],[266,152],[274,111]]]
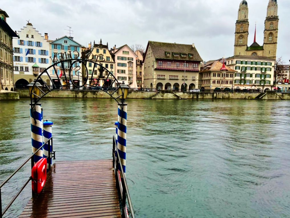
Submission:
[[[123,112],[122,112],[123,106]],[[126,135],[127,135],[127,104],[118,105],[118,139],[117,147],[120,155],[120,162],[126,173]]]

